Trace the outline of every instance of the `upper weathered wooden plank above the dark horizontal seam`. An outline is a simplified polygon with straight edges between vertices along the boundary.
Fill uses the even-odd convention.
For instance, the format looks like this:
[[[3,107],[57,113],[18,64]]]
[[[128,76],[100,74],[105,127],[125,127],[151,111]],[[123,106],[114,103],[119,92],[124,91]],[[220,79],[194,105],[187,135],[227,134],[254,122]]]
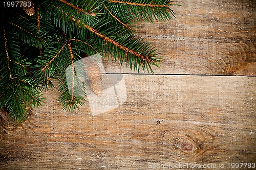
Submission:
[[[176,18],[140,23],[138,36],[162,53],[156,74],[256,75],[255,1],[175,1]],[[108,72],[132,72],[105,61]],[[142,72],[142,71],[141,71]]]

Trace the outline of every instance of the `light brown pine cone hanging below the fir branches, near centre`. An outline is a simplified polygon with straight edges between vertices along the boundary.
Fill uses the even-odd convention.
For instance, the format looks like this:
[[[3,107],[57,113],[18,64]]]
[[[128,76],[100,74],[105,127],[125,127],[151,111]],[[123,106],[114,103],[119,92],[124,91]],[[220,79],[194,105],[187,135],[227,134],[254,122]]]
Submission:
[[[102,76],[100,68],[97,62],[92,62],[90,58],[84,59],[84,64],[86,66],[83,67],[86,70],[87,78],[89,79],[89,84],[93,92],[100,97],[103,90]]]

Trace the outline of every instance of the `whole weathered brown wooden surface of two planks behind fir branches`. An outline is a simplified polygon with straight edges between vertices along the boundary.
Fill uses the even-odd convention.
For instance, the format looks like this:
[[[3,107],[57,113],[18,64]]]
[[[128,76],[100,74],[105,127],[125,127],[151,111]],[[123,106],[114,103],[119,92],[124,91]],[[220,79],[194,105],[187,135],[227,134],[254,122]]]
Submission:
[[[162,53],[156,75],[104,61],[107,72],[123,74],[127,100],[96,116],[88,103],[62,111],[57,86],[45,92],[45,106],[22,125],[1,119],[0,169],[256,163],[255,1],[175,3],[182,7],[173,7],[173,21],[136,29]]]

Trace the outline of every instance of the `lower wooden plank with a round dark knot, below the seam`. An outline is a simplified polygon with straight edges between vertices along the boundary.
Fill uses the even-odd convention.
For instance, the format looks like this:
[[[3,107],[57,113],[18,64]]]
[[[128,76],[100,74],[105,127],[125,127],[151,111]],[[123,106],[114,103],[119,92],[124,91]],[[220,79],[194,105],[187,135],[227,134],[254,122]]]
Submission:
[[[22,126],[1,126],[0,169],[234,169],[227,163],[256,162],[255,77],[124,79],[126,102],[96,116],[88,103],[61,111],[57,89],[45,92],[45,106]]]

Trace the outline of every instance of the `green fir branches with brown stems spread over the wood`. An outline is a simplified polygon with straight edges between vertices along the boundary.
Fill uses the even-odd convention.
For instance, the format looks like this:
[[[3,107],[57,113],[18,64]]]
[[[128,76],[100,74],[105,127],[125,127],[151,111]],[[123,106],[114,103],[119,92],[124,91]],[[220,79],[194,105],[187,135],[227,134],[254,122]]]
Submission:
[[[160,58],[134,35],[134,23],[174,16],[169,0],[19,2],[0,7],[0,109],[15,123],[26,119],[29,107],[42,105],[41,91],[53,87],[52,78],[60,82],[63,109],[83,104],[83,97],[69,92],[65,76],[81,53],[100,53],[115,63],[125,60],[131,69],[153,72]]]

